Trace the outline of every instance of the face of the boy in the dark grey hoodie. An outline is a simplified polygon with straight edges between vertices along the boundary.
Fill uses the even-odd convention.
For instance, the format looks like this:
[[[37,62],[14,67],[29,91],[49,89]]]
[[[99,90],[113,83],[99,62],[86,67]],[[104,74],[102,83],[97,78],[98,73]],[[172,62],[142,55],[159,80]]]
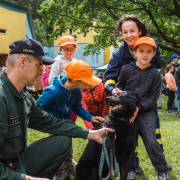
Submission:
[[[134,51],[134,54],[137,57],[137,66],[146,68],[149,66],[155,52],[153,46],[149,44],[140,44],[136,51]]]

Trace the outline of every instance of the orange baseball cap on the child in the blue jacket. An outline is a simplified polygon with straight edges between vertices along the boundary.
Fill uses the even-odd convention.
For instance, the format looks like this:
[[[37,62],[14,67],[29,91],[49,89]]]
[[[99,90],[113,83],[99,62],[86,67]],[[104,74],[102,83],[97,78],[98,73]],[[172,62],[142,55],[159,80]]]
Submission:
[[[90,66],[82,60],[72,61],[66,65],[67,77],[81,80],[89,85],[98,85],[101,79],[92,75]]]

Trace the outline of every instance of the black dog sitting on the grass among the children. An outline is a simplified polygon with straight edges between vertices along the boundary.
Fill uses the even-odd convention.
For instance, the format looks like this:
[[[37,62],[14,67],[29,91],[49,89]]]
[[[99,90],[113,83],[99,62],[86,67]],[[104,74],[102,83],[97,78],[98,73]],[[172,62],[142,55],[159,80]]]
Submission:
[[[106,98],[106,103],[112,106],[110,114],[105,117],[104,127],[115,129],[108,133],[106,146],[115,145],[115,155],[120,169],[120,180],[127,180],[128,165],[132,152],[135,150],[136,127],[129,123],[136,110],[137,100],[134,96],[122,92]],[[101,127],[95,127],[99,129]],[[116,134],[116,139],[115,139]],[[75,180],[99,180],[99,163],[102,145],[90,140],[77,166]],[[107,163],[103,166],[102,177],[109,173]]]

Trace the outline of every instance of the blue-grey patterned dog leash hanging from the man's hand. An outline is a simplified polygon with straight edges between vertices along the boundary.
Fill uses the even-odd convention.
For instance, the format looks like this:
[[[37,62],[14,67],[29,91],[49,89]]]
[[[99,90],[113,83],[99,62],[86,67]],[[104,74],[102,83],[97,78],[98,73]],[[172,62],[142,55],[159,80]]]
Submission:
[[[118,176],[118,166],[117,166],[117,161],[116,161],[116,156],[115,156],[115,147],[113,146],[113,148],[110,149],[110,161],[109,161],[109,155],[108,155],[108,151],[107,151],[107,148],[106,148],[105,141],[106,141],[106,137],[103,139],[101,158],[100,158],[100,165],[99,165],[99,177],[102,180],[108,180],[111,174],[112,174],[113,177]],[[107,164],[108,164],[109,174],[107,175],[107,177],[102,178],[102,170],[103,170],[103,165],[104,165],[105,158],[106,158],[106,161],[107,161]],[[115,171],[114,171],[114,166],[115,166]]]

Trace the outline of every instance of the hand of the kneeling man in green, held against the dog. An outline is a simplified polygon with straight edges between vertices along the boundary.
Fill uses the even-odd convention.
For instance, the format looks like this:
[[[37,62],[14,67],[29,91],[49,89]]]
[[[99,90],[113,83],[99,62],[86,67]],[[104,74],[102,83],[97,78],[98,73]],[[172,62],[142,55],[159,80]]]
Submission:
[[[99,130],[89,130],[88,139],[94,140],[98,142],[99,144],[103,143],[103,139],[106,136],[106,132],[115,132],[115,130],[110,128],[102,128]]]

